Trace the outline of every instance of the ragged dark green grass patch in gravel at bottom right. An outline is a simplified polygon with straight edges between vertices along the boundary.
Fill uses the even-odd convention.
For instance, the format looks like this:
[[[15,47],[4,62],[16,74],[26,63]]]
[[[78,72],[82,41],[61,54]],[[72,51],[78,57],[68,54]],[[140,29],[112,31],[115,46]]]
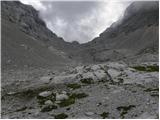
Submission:
[[[120,106],[120,107],[117,107],[117,110],[120,111],[121,118],[123,119],[125,117],[125,114],[127,114],[128,111],[134,107],[136,106],[135,105]]]

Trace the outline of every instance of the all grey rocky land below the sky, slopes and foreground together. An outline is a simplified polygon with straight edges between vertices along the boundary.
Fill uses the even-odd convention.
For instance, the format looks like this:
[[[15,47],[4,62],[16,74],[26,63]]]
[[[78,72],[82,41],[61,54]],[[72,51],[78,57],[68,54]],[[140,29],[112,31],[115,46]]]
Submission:
[[[48,30],[33,7],[1,4],[2,118],[159,118],[157,2],[134,2],[82,45]]]

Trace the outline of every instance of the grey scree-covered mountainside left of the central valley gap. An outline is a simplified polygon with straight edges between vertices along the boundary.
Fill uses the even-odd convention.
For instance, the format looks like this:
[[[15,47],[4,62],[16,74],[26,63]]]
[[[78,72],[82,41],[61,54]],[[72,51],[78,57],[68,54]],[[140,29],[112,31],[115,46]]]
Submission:
[[[52,33],[38,11],[19,1],[2,1],[2,69],[70,64],[72,44]]]

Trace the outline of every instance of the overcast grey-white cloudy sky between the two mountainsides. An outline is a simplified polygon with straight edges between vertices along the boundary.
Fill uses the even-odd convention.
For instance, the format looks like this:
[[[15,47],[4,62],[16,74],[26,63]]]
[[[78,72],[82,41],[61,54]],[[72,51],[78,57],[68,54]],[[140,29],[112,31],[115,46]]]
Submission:
[[[47,27],[65,41],[85,43],[122,17],[131,2],[20,0],[40,11]]]

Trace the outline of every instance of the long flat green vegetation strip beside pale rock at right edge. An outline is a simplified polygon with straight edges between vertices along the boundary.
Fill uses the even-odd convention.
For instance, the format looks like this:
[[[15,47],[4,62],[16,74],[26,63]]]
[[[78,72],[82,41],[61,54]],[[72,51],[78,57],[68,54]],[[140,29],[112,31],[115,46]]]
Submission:
[[[132,67],[138,71],[146,71],[146,72],[158,72],[159,71],[159,66],[153,65],[153,66],[134,66]]]

